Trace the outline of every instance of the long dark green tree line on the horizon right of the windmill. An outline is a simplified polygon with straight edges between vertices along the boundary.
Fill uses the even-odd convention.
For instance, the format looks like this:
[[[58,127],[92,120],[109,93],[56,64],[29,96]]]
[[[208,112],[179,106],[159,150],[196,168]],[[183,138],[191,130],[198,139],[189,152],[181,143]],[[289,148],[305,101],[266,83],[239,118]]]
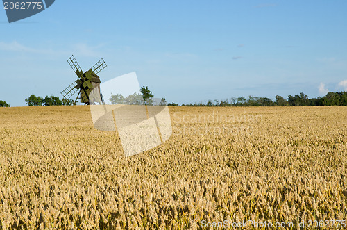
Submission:
[[[168,106],[180,106],[177,103],[169,103]],[[328,92],[324,97],[309,98],[305,93],[289,95],[287,99],[280,95],[275,96],[275,101],[267,97],[232,97],[225,100],[208,100],[194,104],[182,104],[181,106],[347,106],[347,92]]]

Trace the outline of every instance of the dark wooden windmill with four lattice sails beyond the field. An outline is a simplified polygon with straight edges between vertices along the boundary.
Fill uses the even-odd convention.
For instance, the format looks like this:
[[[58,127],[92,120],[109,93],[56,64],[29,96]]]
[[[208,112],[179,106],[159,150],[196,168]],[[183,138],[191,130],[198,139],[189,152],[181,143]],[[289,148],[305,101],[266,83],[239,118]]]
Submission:
[[[99,76],[96,75],[105,67],[107,67],[103,58],[101,58],[99,62],[97,62],[92,68],[90,68],[90,70],[84,73],[80,65],[78,65],[74,55],[72,55],[69,60],[67,60],[67,63],[69,63],[71,68],[74,70],[74,72],[78,76],[78,79],[71,83],[71,85],[67,86],[65,90],[62,90],[62,92],[60,92],[62,97],[69,100],[78,91],[78,95],[74,101],[75,104],[78,97],[81,99],[81,103],[88,105],[90,104],[90,97],[94,97],[92,104],[94,104],[94,101],[99,102],[99,104],[103,104],[103,97],[100,93],[101,81]],[[94,90],[95,88],[96,90]],[[96,95],[93,95],[95,93]]]

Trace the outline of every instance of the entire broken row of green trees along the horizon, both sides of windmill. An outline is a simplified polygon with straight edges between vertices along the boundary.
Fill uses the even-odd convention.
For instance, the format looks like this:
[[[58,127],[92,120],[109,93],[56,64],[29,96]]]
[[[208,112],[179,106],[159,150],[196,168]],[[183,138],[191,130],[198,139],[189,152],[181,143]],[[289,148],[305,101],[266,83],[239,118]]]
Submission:
[[[133,94],[128,97],[122,95],[112,95],[110,101],[112,104],[152,104],[153,93],[148,87],[141,88],[142,95]],[[28,106],[71,106],[76,105],[73,100],[62,99],[51,95],[46,97],[37,97],[30,95],[24,100]],[[166,100],[162,98],[160,104],[167,104]],[[275,101],[267,97],[232,97],[225,100],[208,100],[205,103],[199,102],[194,104],[169,103],[168,106],[347,106],[347,92],[328,92],[324,97],[309,98],[305,93],[301,92],[298,95],[289,95],[286,98],[276,95]],[[0,100],[0,107],[10,107],[6,101]]]

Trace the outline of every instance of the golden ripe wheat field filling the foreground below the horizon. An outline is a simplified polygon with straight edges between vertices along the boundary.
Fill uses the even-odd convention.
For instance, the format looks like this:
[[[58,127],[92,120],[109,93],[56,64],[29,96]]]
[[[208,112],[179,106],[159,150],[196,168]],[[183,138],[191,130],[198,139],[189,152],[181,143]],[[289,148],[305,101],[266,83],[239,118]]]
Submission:
[[[169,109],[171,138],[126,158],[88,106],[0,108],[0,227],[347,220],[347,107]]]

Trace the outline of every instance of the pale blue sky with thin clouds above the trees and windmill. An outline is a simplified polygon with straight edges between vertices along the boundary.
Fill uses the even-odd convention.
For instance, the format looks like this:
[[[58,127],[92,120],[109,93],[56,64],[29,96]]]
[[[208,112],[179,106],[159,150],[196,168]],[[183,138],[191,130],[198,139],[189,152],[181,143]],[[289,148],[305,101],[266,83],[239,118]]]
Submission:
[[[60,96],[100,58],[101,81],[136,72],[168,102],[347,90],[347,1],[62,1],[8,23],[0,100]]]

